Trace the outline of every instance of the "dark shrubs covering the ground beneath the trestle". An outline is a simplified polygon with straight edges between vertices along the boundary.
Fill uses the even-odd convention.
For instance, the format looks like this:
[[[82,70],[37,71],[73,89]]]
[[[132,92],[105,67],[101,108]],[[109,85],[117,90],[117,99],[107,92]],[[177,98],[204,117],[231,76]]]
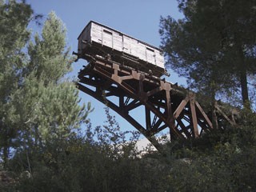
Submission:
[[[50,143],[30,155],[33,178],[18,174],[20,191],[254,191],[256,177],[255,114],[244,112],[236,129],[216,130],[202,138],[173,141],[159,154],[129,153],[114,135],[118,123],[106,110],[106,125],[87,136],[73,134],[66,141]],[[117,145],[115,145],[117,144]],[[130,151],[134,144],[126,142]],[[24,153],[24,152],[22,152]],[[17,154],[13,168],[21,167]],[[40,161],[38,161],[40,159]],[[26,162],[26,159],[24,159]],[[26,167],[24,167],[26,168]],[[23,169],[26,170],[26,169]],[[19,170],[18,173],[21,173]]]

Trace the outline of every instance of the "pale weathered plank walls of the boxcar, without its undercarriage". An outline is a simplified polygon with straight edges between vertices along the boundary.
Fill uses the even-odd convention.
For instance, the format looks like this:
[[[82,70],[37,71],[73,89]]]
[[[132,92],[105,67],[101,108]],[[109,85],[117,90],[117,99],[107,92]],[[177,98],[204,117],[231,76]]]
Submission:
[[[149,70],[155,70],[156,68],[154,66],[158,66],[159,73],[161,74],[160,68],[162,68],[162,73],[164,72],[164,58],[161,50],[141,42],[136,38],[131,38],[126,34],[122,34],[117,30],[112,30],[98,23],[90,22],[78,37],[78,54],[82,53],[82,50],[86,50],[87,44],[83,43],[82,40],[92,43],[92,45],[97,47],[102,46],[102,50],[105,50],[106,52],[112,49],[118,51],[120,56],[122,56],[122,53],[130,54],[131,56],[134,56],[134,58],[138,58],[142,62],[142,65],[143,62],[145,62],[145,65],[147,63],[146,66]],[[90,49],[87,49],[86,51],[90,52]],[[96,52],[95,54],[97,54]],[[118,54],[118,52],[115,52],[115,54]],[[151,64],[152,67],[148,64]]]

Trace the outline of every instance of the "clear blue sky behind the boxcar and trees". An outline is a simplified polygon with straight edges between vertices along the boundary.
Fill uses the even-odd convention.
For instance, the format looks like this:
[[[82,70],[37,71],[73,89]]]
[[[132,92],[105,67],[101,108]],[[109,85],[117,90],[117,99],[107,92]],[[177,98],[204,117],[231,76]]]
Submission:
[[[72,51],[77,50],[78,35],[90,20],[110,26],[153,46],[160,46],[158,34],[160,16],[170,15],[175,19],[182,18],[176,0],[27,0],[27,2],[31,4],[35,14],[43,14],[45,17],[51,10],[54,10],[66,25],[67,42]],[[31,27],[40,33],[40,27],[34,27],[34,25]],[[75,62],[74,70],[70,75],[75,77],[85,64],[86,61],[82,59]],[[173,72],[170,72],[168,81],[185,83],[184,79],[178,78]],[[91,102],[94,106],[94,112],[89,116],[93,127],[102,125],[106,119],[104,105],[89,95],[83,93],[79,95],[83,102]],[[122,129],[134,130],[114,111],[111,111],[111,114],[117,117]],[[141,117],[138,115],[138,118]]]

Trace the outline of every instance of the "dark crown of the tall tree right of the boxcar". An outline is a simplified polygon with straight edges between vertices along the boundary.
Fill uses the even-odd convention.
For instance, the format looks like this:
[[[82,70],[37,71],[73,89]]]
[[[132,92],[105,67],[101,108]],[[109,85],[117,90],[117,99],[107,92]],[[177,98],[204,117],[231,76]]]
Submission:
[[[248,76],[255,74],[255,1],[180,0],[185,18],[161,18],[167,66],[212,94],[241,90],[249,102]]]

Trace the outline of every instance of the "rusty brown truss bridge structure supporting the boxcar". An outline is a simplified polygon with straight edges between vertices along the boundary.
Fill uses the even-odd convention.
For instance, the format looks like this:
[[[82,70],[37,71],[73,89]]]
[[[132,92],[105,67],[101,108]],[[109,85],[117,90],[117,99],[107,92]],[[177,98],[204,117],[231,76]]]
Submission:
[[[155,134],[170,130],[170,139],[198,138],[213,124],[195,94],[102,57],[87,56],[89,62],[78,74],[78,89],[116,111],[161,150]],[[143,123],[133,110],[143,109]]]

